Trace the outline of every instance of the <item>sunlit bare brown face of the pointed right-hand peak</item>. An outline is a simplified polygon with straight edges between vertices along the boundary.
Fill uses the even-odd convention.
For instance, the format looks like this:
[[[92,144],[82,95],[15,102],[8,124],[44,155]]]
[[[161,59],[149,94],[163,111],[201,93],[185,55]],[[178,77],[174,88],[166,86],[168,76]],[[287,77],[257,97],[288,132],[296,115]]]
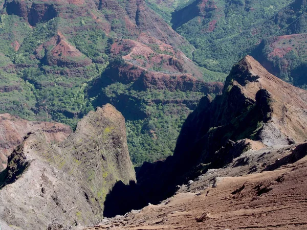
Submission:
[[[307,93],[305,90],[288,84],[274,75],[270,74],[253,57],[247,56],[241,62],[246,66],[251,76],[258,78],[256,81],[247,83],[242,87],[242,92],[247,98],[254,100],[256,92],[259,89],[266,89],[271,95],[272,124],[276,123],[278,129],[286,136],[295,141],[303,142],[306,140],[305,127],[307,118],[305,110],[307,109]],[[234,85],[239,85],[234,82]],[[299,119],[298,119],[299,118]],[[261,135],[265,135],[270,130],[271,124],[266,124]],[[274,136],[274,133],[271,133]],[[272,145],[269,141],[266,145]]]

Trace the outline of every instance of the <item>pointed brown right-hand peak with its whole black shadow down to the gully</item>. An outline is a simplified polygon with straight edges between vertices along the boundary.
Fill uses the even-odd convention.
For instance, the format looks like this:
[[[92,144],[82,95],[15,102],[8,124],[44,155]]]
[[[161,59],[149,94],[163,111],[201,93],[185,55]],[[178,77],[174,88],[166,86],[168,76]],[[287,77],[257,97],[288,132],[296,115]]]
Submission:
[[[137,187],[127,190],[131,197],[139,191],[145,199],[116,210],[111,205],[118,192],[114,190],[109,195],[109,213],[108,209],[105,212],[113,216],[147,202],[158,203],[173,195],[187,178],[222,168],[250,149],[264,148],[266,152],[271,147],[304,142],[306,109],[307,91],[273,76],[251,56],[245,57],[227,77],[223,95],[214,100],[204,97],[188,116],[173,156],[144,163],[138,170]]]

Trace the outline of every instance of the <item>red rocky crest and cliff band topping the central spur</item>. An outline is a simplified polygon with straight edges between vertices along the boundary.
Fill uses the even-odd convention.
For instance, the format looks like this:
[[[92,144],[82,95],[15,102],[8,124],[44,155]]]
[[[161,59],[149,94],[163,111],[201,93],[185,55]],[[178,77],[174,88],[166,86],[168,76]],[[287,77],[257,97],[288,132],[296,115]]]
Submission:
[[[136,90],[167,89],[169,91],[200,91],[205,94],[221,94],[223,83],[205,82],[199,68],[181,51],[175,52],[153,37],[143,35],[141,42],[118,40],[111,48],[114,55],[127,53],[122,61],[111,62],[101,81],[133,82]],[[153,50],[149,45],[155,45]]]

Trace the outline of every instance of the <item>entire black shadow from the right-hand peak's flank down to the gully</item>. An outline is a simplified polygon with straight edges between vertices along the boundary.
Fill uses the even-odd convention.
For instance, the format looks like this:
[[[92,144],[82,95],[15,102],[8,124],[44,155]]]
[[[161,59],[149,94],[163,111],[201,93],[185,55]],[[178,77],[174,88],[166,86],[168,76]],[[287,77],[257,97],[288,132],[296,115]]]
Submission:
[[[217,96],[213,102],[210,98],[204,97],[198,108],[186,119],[174,155],[154,163],[145,162],[137,170],[136,185],[132,183],[125,186],[118,182],[106,197],[104,216],[124,215],[133,209],[141,209],[148,203],[158,204],[176,193],[177,186],[198,177],[208,169],[221,168],[229,164],[242,153],[247,145],[244,141],[234,141],[251,136],[257,129],[259,121],[264,119],[262,112],[267,114],[270,109],[266,108],[265,103],[268,95],[266,91],[259,90],[255,104],[244,103],[245,98],[239,97],[240,92],[236,87],[232,88],[229,95],[235,99],[231,100],[234,111],[238,113],[232,113],[234,118],[228,113],[232,111],[229,106],[221,116],[220,108],[226,107],[222,105],[229,103],[223,96]],[[245,109],[246,106],[248,109]],[[217,114],[221,117],[218,118]],[[230,120],[233,123],[229,122]],[[249,128],[246,124],[249,124]],[[211,126],[218,128],[211,130]]]

